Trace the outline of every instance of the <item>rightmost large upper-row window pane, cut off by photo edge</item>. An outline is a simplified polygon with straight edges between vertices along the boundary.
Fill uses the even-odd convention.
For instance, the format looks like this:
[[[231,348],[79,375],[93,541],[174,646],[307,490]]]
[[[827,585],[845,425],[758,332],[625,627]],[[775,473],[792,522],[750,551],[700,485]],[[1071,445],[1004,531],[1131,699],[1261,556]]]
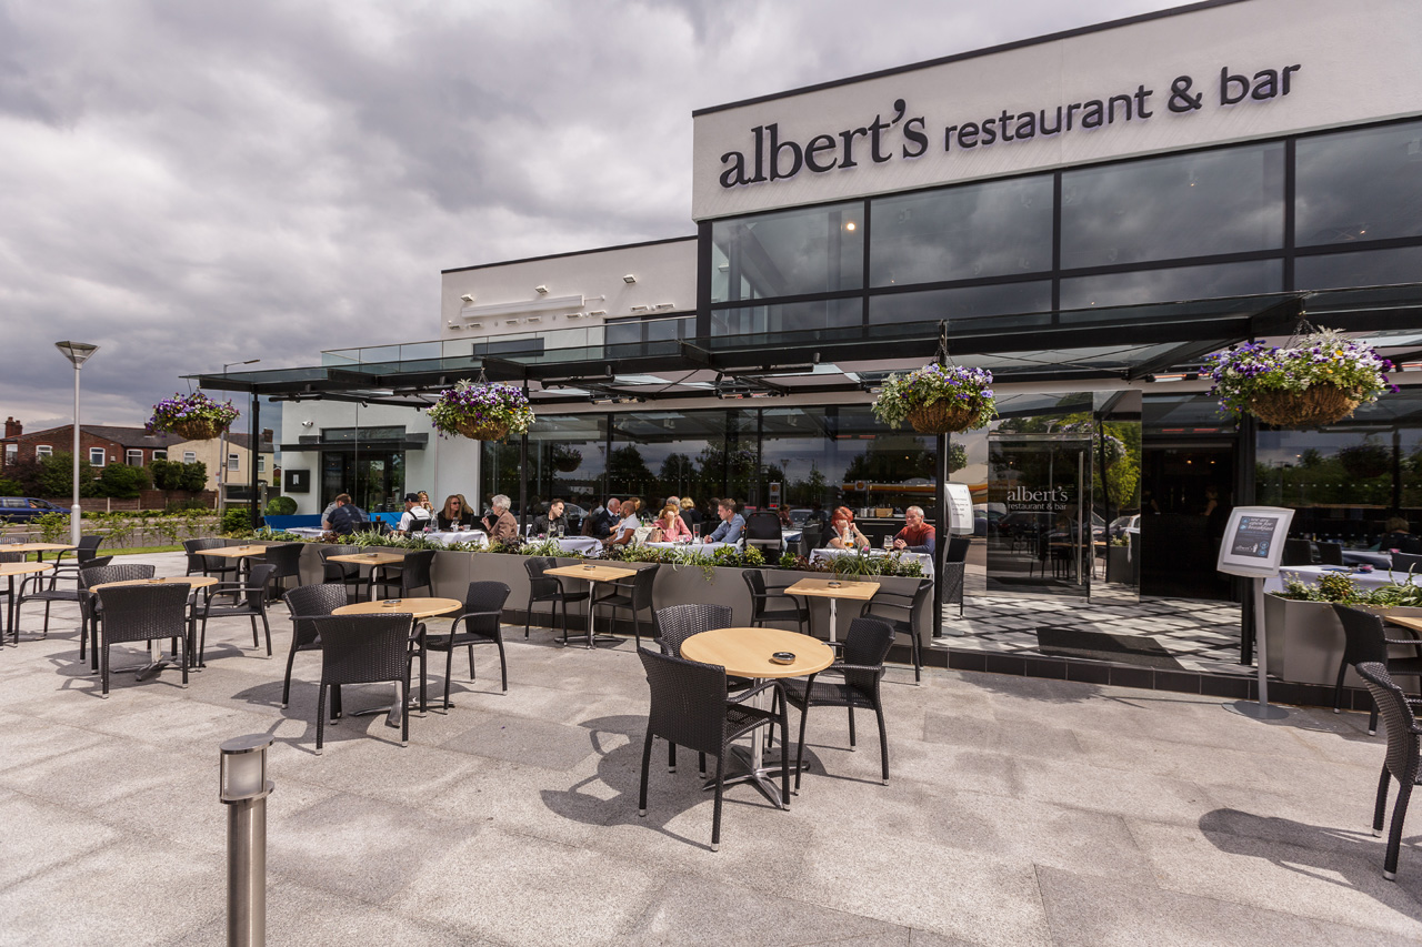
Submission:
[[[1422,235],[1422,122],[1300,138],[1294,154],[1298,246]]]

